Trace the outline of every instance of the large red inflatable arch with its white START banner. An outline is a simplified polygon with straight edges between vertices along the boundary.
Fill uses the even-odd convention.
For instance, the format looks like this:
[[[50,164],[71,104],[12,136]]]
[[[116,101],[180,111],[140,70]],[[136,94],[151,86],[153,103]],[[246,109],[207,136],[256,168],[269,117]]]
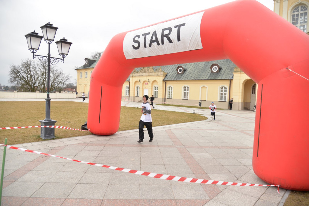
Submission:
[[[135,67],[226,58],[259,85],[255,174],[281,188],[308,191],[309,81],[294,72],[309,77],[309,36],[254,0],[114,36],[91,75],[87,126],[97,135],[117,132],[122,85]]]

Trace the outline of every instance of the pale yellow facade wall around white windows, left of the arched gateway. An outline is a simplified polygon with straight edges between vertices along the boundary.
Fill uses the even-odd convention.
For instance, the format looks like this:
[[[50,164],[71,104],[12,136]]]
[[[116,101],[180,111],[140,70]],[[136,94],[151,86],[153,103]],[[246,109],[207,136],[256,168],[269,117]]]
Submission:
[[[164,75],[165,76],[165,75]],[[126,81],[122,89],[122,100],[126,101],[136,101],[141,102],[142,96],[144,95],[144,89],[148,89],[148,96],[154,95],[154,86],[158,86],[158,97],[155,98],[155,103],[167,103],[176,105],[193,105],[198,106],[199,101],[202,102],[202,107],[209,107],[211,102],[215,102],[218,108],[228,108],[228,100],[230,97],[231,88],[230,80],[183,80],[183,81],[163,81],[164,76],[162,75],[162,80],[159,82],[157,80],[151,81],[152,76],[147,76],[144,74],[143,80],[133,77],[133,81]],[[148,78],[150,83],[148,82]],[[156,77],[158,79],[158,77]],[[141,82],[139,82],[141,80]],[[231,80],[232,86],[233,80]],[[146,83],[146,84],[145,84]],[[126,95],[125,88],[129,86],[129,95]],[[136,87],[140,87],[139,96],[136,94]],[[183,98],[183,87],[187,86],[188,99]],[[220,101],[220,87],[226,87],[226,100]],[[168,98],[168,87],[172,87],[172,98]],[[124,99],[126,98],[126,99]]]

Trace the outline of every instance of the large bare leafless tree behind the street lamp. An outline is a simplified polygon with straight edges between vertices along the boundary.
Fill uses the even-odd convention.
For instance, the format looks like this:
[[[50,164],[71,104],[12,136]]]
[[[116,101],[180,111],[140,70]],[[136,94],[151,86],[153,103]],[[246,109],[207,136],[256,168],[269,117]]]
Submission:
[[[9,83],[18,91],[45,92],[47,90],[47,64],[41,61],[22,60],[21,65],[11,65]],[[61,69],[50,67],[50,91],[61,89],[70,79]]]

